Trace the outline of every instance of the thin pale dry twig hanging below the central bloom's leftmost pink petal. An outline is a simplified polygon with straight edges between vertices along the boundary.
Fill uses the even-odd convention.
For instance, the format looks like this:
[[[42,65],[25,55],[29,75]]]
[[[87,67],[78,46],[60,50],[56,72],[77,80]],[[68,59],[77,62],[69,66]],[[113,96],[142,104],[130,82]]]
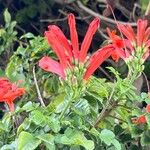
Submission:
[[[40,103],[41,103],[42,106],[45,107],[45,104],[44,104],[44,101],[42,99],[40,89],[39,89],[39,86],[38,86],[38,83],[37,83],[36,75],[35,75],[35,66],[33,67],[33,78],[34,78],[34,83],[35,83],[35,86],[36,86],[36,90],[37,90],[37,94],[38,94],[38,98],[40,100]]]

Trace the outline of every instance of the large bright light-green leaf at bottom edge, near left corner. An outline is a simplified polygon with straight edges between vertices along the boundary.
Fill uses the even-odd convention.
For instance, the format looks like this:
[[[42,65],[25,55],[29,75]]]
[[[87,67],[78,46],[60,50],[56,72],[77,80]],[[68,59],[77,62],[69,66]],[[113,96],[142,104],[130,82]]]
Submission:
[[[28,132],[21,132],[18,138],[18,150],[34,150],[41,143],[41,140],[35,138]]]

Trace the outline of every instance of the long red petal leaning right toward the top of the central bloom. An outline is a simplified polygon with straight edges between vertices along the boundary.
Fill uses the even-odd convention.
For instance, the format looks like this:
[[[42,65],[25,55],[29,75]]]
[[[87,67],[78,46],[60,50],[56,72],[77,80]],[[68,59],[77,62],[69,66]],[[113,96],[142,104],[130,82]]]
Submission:
[[[92,38],[96,32],[96,30],[99,28],[100,25],[100,19],[95,18],[89,25],[89,28],[86,32],[86,35],[84,37],[84,40],[81,45],[81,50],[80,50],[80,61],[83,62],[86,58],[87,51],[90,47]]]

